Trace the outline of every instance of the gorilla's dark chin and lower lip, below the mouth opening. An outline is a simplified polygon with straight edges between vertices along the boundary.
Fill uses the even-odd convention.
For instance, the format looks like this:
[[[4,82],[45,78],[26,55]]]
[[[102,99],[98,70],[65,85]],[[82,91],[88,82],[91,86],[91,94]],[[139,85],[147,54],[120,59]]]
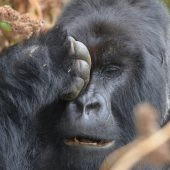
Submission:
[[[57,167],[60,170],[98,170],[105,157],[114,149],[114,142],[107,146],[64,144],[56,152]]]

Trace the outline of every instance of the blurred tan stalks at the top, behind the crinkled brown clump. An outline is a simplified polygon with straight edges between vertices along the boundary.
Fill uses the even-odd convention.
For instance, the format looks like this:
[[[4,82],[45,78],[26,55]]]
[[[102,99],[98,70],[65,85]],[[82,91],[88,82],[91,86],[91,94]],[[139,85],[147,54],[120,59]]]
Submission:
[[[10,0],[10,3],[20,13],[29,13],[34,19],[44,20],[48,28],[51,28],[62,8],[69,0]]]

